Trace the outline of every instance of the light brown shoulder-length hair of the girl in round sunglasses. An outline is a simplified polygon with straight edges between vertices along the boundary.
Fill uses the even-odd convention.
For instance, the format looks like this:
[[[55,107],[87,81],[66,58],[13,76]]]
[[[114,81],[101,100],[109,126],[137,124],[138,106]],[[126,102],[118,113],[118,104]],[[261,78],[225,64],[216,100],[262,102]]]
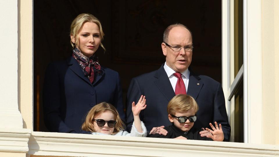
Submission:
[[[112,135],[116,134],[120,130],[125,129],[125,124],[121,120],[119,113],[117,112],[116,108],[112,106],[110,103],[102,102],[100,104],[95,105],[90,109],[90,111],[87,113],[87,116],[85,118],[85,122],[82,124],[81,129],[84,131],[90,131],[90,132],[96,132],[94,129],[93,121],[94,117],[102,114],[105,111],[110,111],[111,113],[114,114],[114,118],[116,121],[114,130]]]

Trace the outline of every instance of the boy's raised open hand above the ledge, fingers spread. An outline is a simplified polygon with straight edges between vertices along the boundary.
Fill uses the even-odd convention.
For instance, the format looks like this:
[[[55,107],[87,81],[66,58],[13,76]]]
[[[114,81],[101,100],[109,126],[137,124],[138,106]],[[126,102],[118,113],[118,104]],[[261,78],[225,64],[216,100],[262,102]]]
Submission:
[[[223,141],[224,133],[222,131],[222,125],[219,124],[219,127],[218,127],[217,122],[214,122],[214,123],[215,123],[216,129],[214,128],[214,126],[211,123],[209,123],[209,125],[211,126],[213,131],[211,129],[205,128],[208,132],[212,133],[212,135],[209,134],[209,135],[206,135],[206,137],[212,138],[212,140],[214,140],[214,141]]]

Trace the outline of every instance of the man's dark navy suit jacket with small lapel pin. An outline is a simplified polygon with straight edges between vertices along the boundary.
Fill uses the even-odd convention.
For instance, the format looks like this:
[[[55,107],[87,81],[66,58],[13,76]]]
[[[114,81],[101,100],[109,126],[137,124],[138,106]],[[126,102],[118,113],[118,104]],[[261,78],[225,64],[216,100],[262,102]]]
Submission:
[[[214,124],[216,121],[222,125],[224,141],[228,141],[230,125],[221,84],[208,76],[195,75],[190,70],[187,94],[194,97],[199,107],[197,121],[193,127],[211,129],[209,123]],[[175,93],[164,70],[164,64],[158,70],[132,79],[127,93],[127,103],[137,102],[141,95],[146,96],[147,107],[140,112],[140,119],[144,122],[147,131],[151,131],[153,127],[171,125],[167,105]],[[133,123],[133,112],[131,112],[130,105],[127,105],[126,116],[127,130],[130,130]]]

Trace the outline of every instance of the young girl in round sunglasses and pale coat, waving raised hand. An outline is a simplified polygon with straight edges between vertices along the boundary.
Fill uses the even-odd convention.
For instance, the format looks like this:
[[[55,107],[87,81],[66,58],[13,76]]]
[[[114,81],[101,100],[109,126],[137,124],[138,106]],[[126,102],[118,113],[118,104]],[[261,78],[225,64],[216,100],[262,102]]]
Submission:
[[[131,133],[124,131],[125,124],[121,120],[117,110],[114,106],[106,102],[102,102],[91,108],[81,129],[97,135],[146,137],[146,127],[140,121],[139,117],[140,111],[146,108],[145,102],[145,96],[142,95],[137,105],[135,105],[135,102],[132,103],[134,122]]]

